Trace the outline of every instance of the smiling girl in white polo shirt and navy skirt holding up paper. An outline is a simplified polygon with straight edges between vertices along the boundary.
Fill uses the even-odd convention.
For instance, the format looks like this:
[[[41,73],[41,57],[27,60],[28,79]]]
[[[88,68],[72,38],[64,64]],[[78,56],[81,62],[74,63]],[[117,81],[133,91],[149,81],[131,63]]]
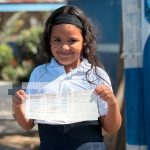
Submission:
[[[33,70],[29,84],[47,85],[28,94],[95,89],[99,117],[97,121],[65,125],[27,119],[22,107],[27,95],[19,90],[13,97],[17,122],[27,130],[38,124],[40,150],[105,150],[102,128],[115,134],[121,115],[110,79],[96,58],[96,38],[90,21],[76,6],[58,8],[46,21],[41,44],[46,63]]]

